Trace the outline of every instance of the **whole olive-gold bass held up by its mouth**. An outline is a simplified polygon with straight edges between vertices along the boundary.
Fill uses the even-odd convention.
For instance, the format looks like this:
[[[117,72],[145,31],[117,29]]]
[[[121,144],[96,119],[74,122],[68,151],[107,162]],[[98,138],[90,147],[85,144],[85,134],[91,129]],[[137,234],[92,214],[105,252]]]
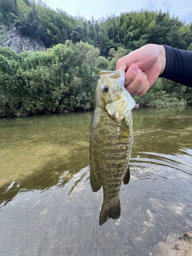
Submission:
[[[99,225],[121,214],[119,192],[130,180],[133,146],[131,110],[135,100],[124,88],[125,72],[99,73],[90,134],[90,183],[93,192],[103,187]]]

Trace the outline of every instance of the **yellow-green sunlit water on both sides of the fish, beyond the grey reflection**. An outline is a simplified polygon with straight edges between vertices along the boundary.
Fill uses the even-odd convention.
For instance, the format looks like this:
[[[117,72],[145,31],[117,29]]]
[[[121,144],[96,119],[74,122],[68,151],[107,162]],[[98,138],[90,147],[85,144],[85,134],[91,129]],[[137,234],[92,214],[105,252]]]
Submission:
[[[47,189],[61,177],[64,186],[89,165],[91,118],[92,112],[85,112],[0,120],[0,203],[20,189]],[[191,119],[186,106],[134,109],[131,164],[156,163],[191,175]]]

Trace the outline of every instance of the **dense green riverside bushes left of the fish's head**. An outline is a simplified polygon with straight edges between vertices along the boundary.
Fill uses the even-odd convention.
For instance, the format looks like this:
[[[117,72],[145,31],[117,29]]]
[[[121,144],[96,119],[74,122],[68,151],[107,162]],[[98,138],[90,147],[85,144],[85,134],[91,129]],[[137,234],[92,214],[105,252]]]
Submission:
[[[0,48],[1,111],[90,108],[99,53],[94,46],[82,41],[74,45],[69,40],[46,53],[16,54],[9,47]]]

